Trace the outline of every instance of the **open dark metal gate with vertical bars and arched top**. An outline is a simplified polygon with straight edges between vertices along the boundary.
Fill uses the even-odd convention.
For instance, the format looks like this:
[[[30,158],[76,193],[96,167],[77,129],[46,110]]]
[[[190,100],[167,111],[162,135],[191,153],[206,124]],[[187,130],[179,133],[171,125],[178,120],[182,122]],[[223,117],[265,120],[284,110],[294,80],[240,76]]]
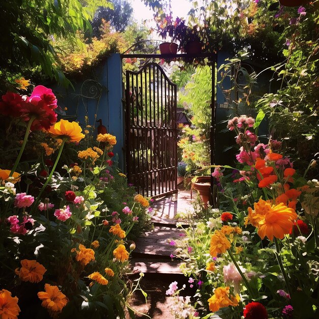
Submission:
[[[127,178],[146,197],[177,193],[176,95],[157,63],[126,71]]]

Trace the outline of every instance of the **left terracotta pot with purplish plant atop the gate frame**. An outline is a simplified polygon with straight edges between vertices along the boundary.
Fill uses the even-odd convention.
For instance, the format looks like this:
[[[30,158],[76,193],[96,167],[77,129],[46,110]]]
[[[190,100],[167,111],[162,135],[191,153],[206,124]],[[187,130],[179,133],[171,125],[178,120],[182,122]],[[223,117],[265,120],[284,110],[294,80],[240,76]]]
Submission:
[[[163,42],[159,44],[159,50],[161,54],[176,54],[178,49],[178,44],[174,41],[181,41],[183,38],[187,26],[185,25],[185,20],[176,18],[173,20],[172,15],[167,15],[161,20],[158,28],[158,35],[166,40],[167,37],[172,38],[171,42]]]

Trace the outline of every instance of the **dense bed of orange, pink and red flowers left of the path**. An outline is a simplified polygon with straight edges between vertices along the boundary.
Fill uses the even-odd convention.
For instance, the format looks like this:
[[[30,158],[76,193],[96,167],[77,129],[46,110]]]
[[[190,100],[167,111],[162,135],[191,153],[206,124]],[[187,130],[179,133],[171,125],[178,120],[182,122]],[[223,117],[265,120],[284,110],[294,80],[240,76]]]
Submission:
[[[43,86],[0,102],[0,317],[124,318],[132,235],[151,208],[117,168],[116,137],[57,108]]]

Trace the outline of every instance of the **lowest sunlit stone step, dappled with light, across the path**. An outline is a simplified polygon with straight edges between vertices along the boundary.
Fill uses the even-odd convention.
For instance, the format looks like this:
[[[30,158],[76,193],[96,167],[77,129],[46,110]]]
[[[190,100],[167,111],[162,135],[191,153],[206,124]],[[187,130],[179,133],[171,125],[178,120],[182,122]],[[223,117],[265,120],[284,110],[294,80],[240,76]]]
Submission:
[[[145,274],[178,274],[182,272],[179,269],[180,261],[167,261],[162,259],[132,258],[132,272]]]

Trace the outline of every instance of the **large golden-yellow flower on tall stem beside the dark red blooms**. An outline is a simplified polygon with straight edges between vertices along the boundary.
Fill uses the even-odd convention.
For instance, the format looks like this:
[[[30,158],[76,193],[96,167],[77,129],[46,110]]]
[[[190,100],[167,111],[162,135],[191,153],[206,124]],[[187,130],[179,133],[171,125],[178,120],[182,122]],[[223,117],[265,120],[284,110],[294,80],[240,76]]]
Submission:
[[[61,120],[48,129],[48,133],[54,138],[67,138],[69,142],[81,141],[85,135],[81,133],[82,128],[76,122]]]

